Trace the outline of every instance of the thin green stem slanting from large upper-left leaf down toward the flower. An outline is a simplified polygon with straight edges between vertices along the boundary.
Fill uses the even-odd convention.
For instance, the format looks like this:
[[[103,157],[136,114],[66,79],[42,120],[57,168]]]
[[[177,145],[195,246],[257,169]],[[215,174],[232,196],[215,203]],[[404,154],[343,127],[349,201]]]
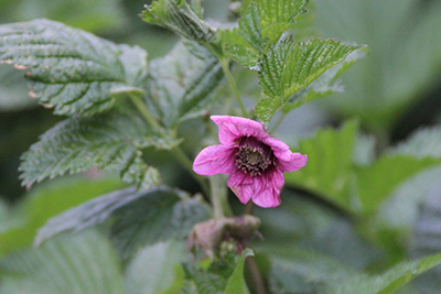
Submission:
[[[146,120],[149,122],[149,124],[155,131],[158,131],[162,138],[166,139],[165,131],[158,123],[158,121],[153,118],[153,116],[150,113],[150,110],[142,102],[141,97],[136,96],[136,95],[130,95],[130,99],[135,104],[135,106],[138,108],[138,110],[141,112],[141,115],[146,118]],[[208,185],[207,185],[205,178],[193,172],[193,163],[191,162],[191,160],[189,160],[189,157],[185,155],[185,153],[182,151],[182,149],[180,146],[175,146],[171,150],[171,152],[176,157],[176,160],[182,164],[182,166],[184,166],[190,172],[190,174],[200,183],[204,193],[208,195],[209,188],[208,188]]]

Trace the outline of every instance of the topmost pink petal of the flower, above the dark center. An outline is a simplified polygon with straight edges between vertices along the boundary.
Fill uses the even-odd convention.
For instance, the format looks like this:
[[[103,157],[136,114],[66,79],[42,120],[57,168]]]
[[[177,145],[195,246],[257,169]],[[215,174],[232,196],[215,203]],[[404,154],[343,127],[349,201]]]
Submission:
[[[219,142],[224,145],[232,146],[241,137],[255,137],[260,141],[269,137],[263,124],[255,120],[230,116],[212,116],[211,119],[219,126]]]

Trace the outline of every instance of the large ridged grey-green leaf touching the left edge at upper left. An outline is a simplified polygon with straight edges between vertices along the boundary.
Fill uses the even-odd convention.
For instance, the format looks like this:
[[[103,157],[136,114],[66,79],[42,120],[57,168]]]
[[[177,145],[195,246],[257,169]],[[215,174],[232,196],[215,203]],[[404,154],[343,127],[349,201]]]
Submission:
[[[58,22],[0,26],[0,61],[25,69],[31,97],[56,115],[93,116],[110,109],[115,92],[141,94],[147,53],[116,45]]]

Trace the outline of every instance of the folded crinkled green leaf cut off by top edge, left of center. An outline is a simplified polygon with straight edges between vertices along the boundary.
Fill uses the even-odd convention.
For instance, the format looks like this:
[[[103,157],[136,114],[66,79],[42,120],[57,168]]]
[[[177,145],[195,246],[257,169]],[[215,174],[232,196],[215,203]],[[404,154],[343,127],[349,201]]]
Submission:
[[[211,43],[216,39],[213,28],[201,19],[200,1],[158,0],[146,6],[143,21],[164,26],[173,32],[200,43]],[[196,8],[196,11],[193,9]]]

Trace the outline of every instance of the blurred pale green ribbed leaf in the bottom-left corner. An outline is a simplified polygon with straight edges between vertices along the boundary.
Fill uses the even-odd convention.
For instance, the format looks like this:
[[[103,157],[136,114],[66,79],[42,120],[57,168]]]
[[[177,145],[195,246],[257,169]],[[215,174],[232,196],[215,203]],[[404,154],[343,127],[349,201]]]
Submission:
[[[97,232],[63,236],[0,263],[1,293],[126,293],[115,250]]]

